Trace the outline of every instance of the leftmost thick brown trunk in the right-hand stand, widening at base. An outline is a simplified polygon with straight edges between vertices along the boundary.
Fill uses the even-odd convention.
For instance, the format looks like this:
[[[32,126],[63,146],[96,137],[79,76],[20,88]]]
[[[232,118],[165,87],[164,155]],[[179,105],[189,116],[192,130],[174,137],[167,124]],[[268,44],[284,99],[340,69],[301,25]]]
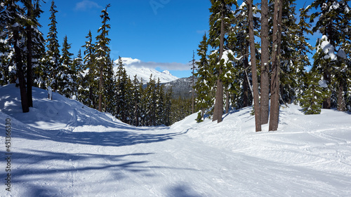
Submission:
[[[222,11],[221,11],[221,20],[220,20],[220,54],[219,54],[219,61],[222,59],[223,50],[224,50],[224,14],[223,10],[225,9],[225,5],[222,4]],[[212,121],[217,121],[217,123],[222,122],[223,116],[223,82],[220,79],[220,76],[223,74],[222,66],[219,67],[219,74],[217,79],[217,90],[216,90],[216,102],[215,102],[215,109],[213,111],[213,119]]]

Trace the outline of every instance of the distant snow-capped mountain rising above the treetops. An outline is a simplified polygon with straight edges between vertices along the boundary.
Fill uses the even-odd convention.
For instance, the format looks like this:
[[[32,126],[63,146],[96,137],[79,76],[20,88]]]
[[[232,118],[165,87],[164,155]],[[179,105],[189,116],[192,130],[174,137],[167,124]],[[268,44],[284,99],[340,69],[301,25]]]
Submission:
[[[136,74],[137,78],[142,81],[144,84],[149,82],[150,75],[152,78],[159,79],[161,83],[167,83],[179,79],[176,76],[173,76],[170,72],[165,70],[164,72],[159,72],[154,68],[145,66],[141,60],[133,59],[131,57],[121,57],[124,64],[124,69],[131,79],[134,79]],[[114,72],[117,72],[118,60],[114,61]]]

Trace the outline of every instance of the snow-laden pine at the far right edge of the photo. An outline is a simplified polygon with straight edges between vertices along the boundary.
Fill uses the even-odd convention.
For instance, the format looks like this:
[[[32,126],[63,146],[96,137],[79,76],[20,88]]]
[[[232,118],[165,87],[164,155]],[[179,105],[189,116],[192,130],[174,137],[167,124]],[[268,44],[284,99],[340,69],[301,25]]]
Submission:
[[[341,74],[338,71],[345,69],[345,67],[343,68],[343,64],[339,63],[340,61],[337,60],[338,58],[336,56],[334,56],[335,54],[331,55],[331,50],[333,50],[333,52],[343,50],[343,48],[341,48],[343,43],[347,43],[347,39],[350,40],[350,36],[344,35],[350,35],[350,28],[347,27],[347,23],[351,18],[350,8],[347,4],[348,0],[315,0],[311,5],[316,9],[320,8],[320,11],[312,13],[311,15],[311,22],[314,22],[314,20],[318,18],[318,21],[312,30],[313,32],[321,32],[321,34],[324,35],[322,37],[322,40],[324,41],[322,42],[328,41],[331,46],[329,52],[326,51],[326,48],[322,47],[319,48],[321,50],[317,51],[317,53],[314,55],[314,68],[316,68],[319,73],[323,74],[323,78],[326,80],[330,89],[328,91],[328,97],[326,97],[326,100],[323,102],[324,109],[330,109],[334,105],[331,99],[332,93],[338,93],[337,100],[339,100],[339,102],[343,101],[344,94],[342,92],[344,81],[340,81],[340,79],[343,79],[343,76],[338,76],[338,74]],[[322,55],[322,53],[325,54]],[[326,57],[325,55],[328,55],[326,53],[329,53],[332,57]],[[333,87],[337,88],[333,89]]]

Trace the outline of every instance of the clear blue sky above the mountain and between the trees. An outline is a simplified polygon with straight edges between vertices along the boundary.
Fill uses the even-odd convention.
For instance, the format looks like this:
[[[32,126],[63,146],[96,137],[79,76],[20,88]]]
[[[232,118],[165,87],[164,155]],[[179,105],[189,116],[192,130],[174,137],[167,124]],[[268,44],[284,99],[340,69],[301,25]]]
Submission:
[[[312,1],[298,0],[297,11],[305,2]],[[209,0],[56,0],[60,46],[67,35],[72,43],[70,52],[77,56],[89,29],[94,38],[97,36],[100,12],[107,4],[111,4],[107,11],[111,18],[109,37],[114,60],[119,56],[132,57],[160,71],[167,69],[174,76],[191,75],[192,50],[197,53],[199,42],[208,30]],[[42,4],[44,13],[40,22],[44,38],[50,23],[50,6],[51,0]],[[314,46],[315,38],[310,42]]]

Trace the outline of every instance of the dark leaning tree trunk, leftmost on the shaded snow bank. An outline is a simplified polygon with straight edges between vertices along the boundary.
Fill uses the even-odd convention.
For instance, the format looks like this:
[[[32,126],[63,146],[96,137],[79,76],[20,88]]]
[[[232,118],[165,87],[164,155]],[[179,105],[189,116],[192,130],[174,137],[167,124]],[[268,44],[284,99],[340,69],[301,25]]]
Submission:
[[[20,83],[20,97],[21,97],[21,104],[22,104],[22,112],[27,113],[29,112],[29,105],[28,105],[28,98],[27,98],[27,90],[25,88],[25,74],[23,72],[23,67],[22,67],[21,50],[17,44],[20,41],[18,30],[15,30],[15,32],[13,32],[13,37],[15,39],[15,44],[14,44],[15,64],[17,66],[18,81]]]

